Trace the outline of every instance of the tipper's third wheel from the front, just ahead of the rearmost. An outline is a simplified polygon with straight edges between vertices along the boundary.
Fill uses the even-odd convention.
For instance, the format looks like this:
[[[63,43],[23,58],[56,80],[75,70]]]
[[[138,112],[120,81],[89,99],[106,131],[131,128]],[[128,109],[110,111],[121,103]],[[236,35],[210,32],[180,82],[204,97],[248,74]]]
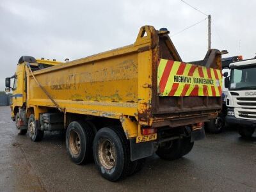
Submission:
[[[76,164],[89,163],[93,159],[93,131],[83,121],[74,121],[68,125],[66,148],[70,159]]]

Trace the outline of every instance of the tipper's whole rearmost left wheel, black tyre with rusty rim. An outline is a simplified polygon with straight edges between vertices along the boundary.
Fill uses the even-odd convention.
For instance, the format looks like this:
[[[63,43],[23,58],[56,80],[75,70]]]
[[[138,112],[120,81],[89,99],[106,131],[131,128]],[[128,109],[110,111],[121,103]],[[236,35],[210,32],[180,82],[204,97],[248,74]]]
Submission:
[[[123,179],[131,173],[129,140],[122,129],[104,127],[93,141],[93,157],[100,175],[110,181]]]

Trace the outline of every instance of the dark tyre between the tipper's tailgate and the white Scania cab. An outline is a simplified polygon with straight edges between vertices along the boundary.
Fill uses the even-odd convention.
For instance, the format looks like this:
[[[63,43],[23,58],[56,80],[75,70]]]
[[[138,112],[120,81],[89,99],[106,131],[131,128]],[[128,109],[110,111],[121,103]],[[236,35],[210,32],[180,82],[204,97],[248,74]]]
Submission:
[[[205,122],[207,131],[211,133],[220,133],[225,127],[225,116],[219,115],[215,119],[211,119],[210,122]]]

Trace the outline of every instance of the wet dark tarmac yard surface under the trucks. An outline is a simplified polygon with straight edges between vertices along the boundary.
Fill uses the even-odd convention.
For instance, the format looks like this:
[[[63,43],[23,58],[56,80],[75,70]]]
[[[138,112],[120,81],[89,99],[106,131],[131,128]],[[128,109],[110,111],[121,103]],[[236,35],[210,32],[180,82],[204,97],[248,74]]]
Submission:
[[[0,107],[0,191],[256,191],[256,136],[207,134],[181,159],[154,155],[141,172],[109,182],[94,163],[70,161],[63,134],[45,132],[38,143],[18,136],[10,108]]]

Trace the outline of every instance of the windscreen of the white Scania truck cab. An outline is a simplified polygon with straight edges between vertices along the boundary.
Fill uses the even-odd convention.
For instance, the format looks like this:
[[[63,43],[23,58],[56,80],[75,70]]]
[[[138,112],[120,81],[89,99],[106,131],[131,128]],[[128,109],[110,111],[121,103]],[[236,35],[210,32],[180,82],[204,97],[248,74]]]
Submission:
[[[232,68],[230,90],[256,89],[256,64],[246,68]]]

